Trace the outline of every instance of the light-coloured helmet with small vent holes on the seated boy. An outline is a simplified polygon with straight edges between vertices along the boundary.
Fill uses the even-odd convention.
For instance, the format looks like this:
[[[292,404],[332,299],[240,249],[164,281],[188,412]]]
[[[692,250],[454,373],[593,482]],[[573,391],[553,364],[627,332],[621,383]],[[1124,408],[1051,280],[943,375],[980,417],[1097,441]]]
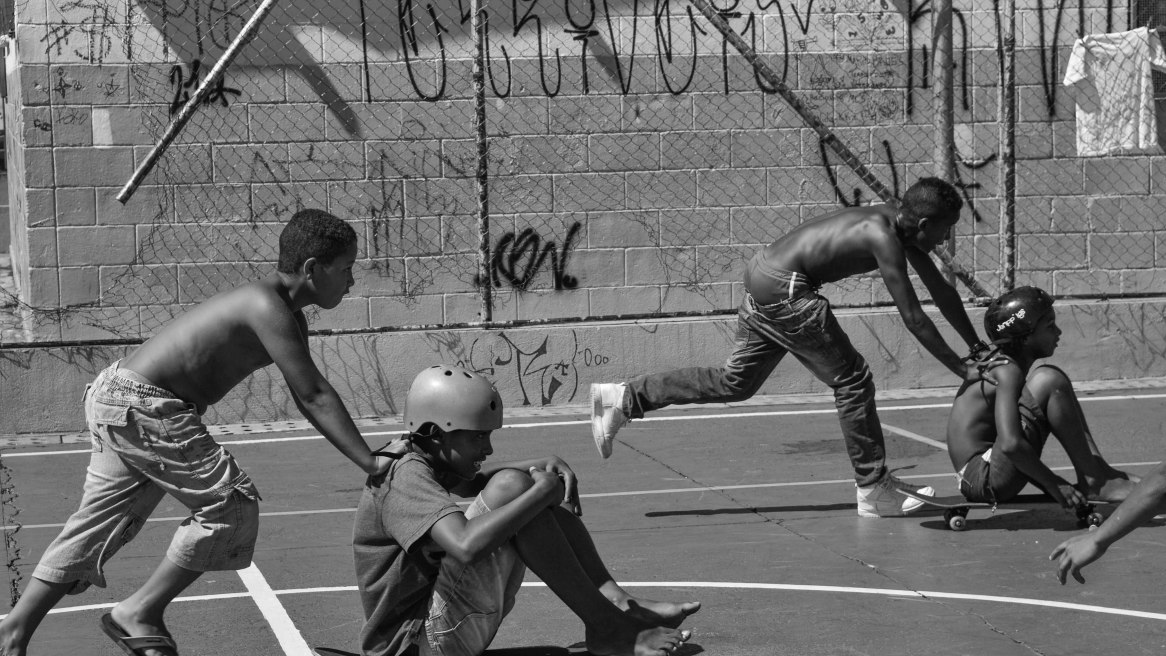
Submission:
[[[486,376],[435,365],[413,379],[405,397],[405,428],[416,432],[427,423],[443,431],[497,430],[503,425],[503,398]]]

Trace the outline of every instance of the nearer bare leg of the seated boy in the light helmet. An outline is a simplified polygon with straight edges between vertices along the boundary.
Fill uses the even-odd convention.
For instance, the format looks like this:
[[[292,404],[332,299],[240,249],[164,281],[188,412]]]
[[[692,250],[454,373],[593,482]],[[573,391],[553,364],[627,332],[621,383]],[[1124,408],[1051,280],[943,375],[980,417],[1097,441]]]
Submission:
[[[482,494],[491,508],[499,508],[532,485],[526,473],[506,470],[494,474]],[[610,577],[605,571],[599,574],[584,567],[550,509],[519,529],[513,543],[531,571],[583,620],[591,654],[666,656],[686,640],[687,634],[674,628],[646,628],[612,604],[592,578]]]

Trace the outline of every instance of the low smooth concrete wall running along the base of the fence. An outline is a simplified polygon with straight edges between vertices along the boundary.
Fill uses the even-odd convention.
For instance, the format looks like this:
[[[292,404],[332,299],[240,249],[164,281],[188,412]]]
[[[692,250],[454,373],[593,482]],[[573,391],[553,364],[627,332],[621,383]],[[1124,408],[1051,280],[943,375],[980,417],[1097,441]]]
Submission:
[[[1159,378],[1166,372],[1166,304],[1161,301],[1059,301],[1061,347],[1051,359],[1077,381]],[[982,311],[970,312],[982,322]],[[870,364],[880,390],[944,388],[960,381],[902,330],[893,310],[840,310],[838,322]],[[939,323],[939,317],[933,312]],[[949,341],[957,338],[942,326]],[[586,403],[592,382],[676,367],[717,366],[736,325],[724,317],[597,322],[506,330],[451,329],[315,337],[312,354],[354,417],[400,414],[421,369],[449,362],[480,371],[507,408]],[[85,385],[129,346],[0,350],[5,407],[0,436],[84,429]],[[759,394],[823,394],[829,389],[786,358]],[[12,405],[9,405],[9,403]],[[255,373],[213,405],[210,424],[302,419],[275,367]],[[570,429],[588,439],[585,426]]]

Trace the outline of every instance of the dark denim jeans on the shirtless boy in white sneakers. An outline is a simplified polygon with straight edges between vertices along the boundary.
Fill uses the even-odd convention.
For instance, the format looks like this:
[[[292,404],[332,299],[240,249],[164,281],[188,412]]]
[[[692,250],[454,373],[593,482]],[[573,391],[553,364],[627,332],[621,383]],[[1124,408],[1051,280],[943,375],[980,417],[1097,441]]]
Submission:
[[[691,367],[627,381],[628,416],[674,403],[728,403],[753,396],[778,362],[792,353],[834,390],[834,403],[847,453],[861,486],[886,472],[883,426],[874,410],[874,381],[830,311],[830,302],[813,289],[798,291],[791,278],[772,275],[773,284],[794,294],[771,305],[745,295],[737,311],[737,344],[721,367]],[[756,278],[754,278],[756,280]]]

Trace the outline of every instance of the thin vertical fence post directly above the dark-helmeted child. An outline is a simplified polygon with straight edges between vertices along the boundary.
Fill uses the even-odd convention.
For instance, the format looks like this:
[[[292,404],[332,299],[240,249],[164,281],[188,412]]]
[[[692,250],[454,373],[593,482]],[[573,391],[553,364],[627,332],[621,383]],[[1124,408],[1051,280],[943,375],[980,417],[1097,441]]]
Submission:
[[[1016,170],[1016,0],[1000,9],[1000,291],[1016,287],[1017,170]]]

